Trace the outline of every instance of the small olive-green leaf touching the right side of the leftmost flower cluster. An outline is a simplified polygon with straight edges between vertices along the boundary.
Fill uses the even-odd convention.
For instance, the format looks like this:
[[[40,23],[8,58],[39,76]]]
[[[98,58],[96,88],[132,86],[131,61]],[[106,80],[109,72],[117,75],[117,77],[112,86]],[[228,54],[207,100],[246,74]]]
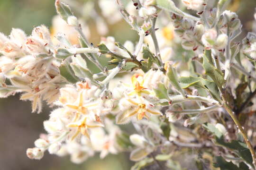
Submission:
[[[69,62],[64,60],[60,67],[60,75],[64,77],[70,83],[76,83],[79,79],[74,75],[72,68],[69,65]]]

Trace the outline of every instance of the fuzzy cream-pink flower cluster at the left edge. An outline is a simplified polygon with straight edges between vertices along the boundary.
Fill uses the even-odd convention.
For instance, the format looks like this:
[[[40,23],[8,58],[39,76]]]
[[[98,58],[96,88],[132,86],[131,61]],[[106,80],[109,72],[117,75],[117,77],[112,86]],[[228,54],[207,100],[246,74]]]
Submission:
[[[1,88],[7,97],[22,92],[21,100],[32,101],[33,112],[42,109],[41,101],[56,101],[64,78],[59,74],[59,62],[53,57],[55,46],[46,26],[34,28],[31,36],[20,29],[13,29],[9,38],[0,34]],[[11,85],[5,83],[8,78]],[[10,90],[9,90],[10,89]]]

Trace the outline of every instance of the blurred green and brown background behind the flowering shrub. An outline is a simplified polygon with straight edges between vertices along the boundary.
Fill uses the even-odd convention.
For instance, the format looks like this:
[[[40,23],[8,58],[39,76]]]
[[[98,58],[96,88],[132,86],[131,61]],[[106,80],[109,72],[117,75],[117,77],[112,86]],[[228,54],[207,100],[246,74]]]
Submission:
[[[73,6],[83,6],[88,0],[69,1]],[[114,3],[115,0],[110,1]],[[255,8],[256,0],[231,1],[229,9],[238,13],[244,26],[240,37],[251,31]],[[81,11],[75,13],[81,15]],[[11,28],[15,27],[29,35],[35,26],[41,24],[53,31],[52,18],[55,15],[54,0],[0,0],[0,32],[9,35]],[[102,35],[95,31],[95,22],[90,18],[84,20],[90,27],[90,41],[99,43]],[[137,41],[137,34],[124,21],[108,25],[109,32],[105,36],[114,36],[119,42]],[[45,105],[43,110],[40,114],[31,113],[31,103],[19,101],[19,94],[0,99],[0,170],[129,170],[133,165],[128,159],[128,153],[109,155],[103,160],[95,155],[80,165],[71,163],[69,157],[57,157],[47,152],[40,161],[28,159],[27,148],[34,147],[39,134],[45,132],[43,121],[48,119],[51,109]]]

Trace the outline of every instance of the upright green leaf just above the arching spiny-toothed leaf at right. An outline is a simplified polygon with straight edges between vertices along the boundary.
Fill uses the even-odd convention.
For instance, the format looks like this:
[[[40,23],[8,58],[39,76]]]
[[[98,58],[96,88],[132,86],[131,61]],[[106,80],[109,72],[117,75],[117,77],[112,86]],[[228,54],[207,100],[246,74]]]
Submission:
[[[210,64],[206,55],[203,55],[203,68],[205,69],[205,74],[210,76],[219,88],[222,88],[222,85],[225,83],[224,76],[220,70]]]

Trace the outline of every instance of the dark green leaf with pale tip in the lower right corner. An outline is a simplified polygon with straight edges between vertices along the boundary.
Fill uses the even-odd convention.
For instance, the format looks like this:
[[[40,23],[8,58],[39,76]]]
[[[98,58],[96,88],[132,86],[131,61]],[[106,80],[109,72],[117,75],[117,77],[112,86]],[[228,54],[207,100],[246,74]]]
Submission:
[[[231,142],[226,142],[224,140],[224,136],[222,135],[222,133],[220,133],[219,130],[210,123],[204,124],[203,127],[205,127],[208,131],[210,131],[215,135],[215,140],[214,140],[215,144],[228,148],[229,150],[236,153],[240,158],[242,158],[248,164],[252,165],[252,161],[253,161],[252,156],[251,156],[250,150],[247,148],[247,145],[245,143],[238,140],[232,140]]]

